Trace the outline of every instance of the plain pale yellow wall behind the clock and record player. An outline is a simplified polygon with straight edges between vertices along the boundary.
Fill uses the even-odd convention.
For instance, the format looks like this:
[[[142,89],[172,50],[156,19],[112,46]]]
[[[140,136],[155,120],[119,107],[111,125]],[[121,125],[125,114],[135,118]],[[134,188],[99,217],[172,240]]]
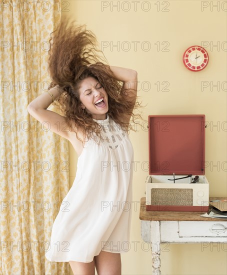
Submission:
[[[68,7],[63,2],[67,2]],[[109,44],[102,49],[111,65],[137,70],[140,81],[138,96],[143,105],[147,103],[143,108],[144,119],[147,120],[149,114],[206,115],[205,174],[210,182],[209,194],[226,196],[226,1],[139,1],[136,10],[135,1],[118,2],[119,11],[117,7],[111,7],[117,1],[62,1],[62,7],[68,9],[62,11],[62,15],[77,20],[79,24],[87,24],[96,34],[100,48],[103,43]],[[218,2],[219,6],[212,6]],[[120,48],[111,48],[111,44],[115,45],[117,41]],[[137,50],[132,41],[138,41]],[[146,50],[148,44],[150,50]],[[182,63],[184,50],[195,44],[203,44],[210,58],[207,67],[199,72],[191,72]],[[216,44],[219,47],[213,46]],[[162,90],[167,83],[161,84],[163,81],[169,83],[168,91]],[[201,81],[206,81],[202,83],[207,85],[203,90]],[[219,88],[212,87],[218,83]],[[130,139],[134,160],[139,163],[147,161],[148,132],[138,127],[137,132],[130,133]],[[76,161],[77,156],[70,144],[71,184]],[[147,175],[148,171],[139,164],[133,178],[134,201],[139,202],[140,197],[145,196]],[[127,253],[121,255],[122,274],[151,273],[151,251],[143,246],[138,216],[139,207],[134,208],[131,227],[131,241],[139,243],[137,250],[132,245]],[[162,274],[225,274],[226,249],[226,245],[209,245],[202,249],[200,243],[161,245]]]

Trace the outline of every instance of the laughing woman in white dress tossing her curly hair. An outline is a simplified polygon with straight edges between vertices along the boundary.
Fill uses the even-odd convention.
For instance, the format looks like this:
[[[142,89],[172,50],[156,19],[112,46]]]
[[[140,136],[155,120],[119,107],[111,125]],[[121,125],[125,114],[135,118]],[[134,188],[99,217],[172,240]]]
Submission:
[[[50,88],[27,110],[40,122],[48,120],[78,155],[46,258],[68,261],[74,274],[94,274],[96,268],[98,274],[113,275],[121,274],[120,253],[130,246],[133,148],[128,130],[140,105],[137,72],[101,62],[96,43],[84,25],[62,22],[50,39]],[[55,100],[64,116],[47,110]]]

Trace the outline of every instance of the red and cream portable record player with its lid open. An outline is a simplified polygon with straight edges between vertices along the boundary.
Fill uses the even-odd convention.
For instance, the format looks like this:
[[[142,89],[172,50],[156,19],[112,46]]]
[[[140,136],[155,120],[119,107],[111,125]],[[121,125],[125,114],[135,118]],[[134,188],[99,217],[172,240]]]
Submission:
[[[146,210],[207,211],[205,115],[149,115]]]

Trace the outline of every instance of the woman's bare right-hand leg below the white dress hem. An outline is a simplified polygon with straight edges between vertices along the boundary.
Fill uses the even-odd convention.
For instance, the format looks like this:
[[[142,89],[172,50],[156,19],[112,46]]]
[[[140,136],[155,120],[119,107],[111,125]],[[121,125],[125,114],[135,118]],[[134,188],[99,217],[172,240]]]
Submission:
[[[94,264],[98,275],[121,275],[120,253],[101,250],[94,256]]]

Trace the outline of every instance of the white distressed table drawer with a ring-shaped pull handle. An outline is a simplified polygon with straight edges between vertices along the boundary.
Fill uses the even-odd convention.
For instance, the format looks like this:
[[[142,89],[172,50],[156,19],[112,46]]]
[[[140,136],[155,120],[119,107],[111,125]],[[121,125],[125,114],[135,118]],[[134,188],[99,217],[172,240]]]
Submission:
[[[227,221],[179,221],[179,237],[227,237]]]

